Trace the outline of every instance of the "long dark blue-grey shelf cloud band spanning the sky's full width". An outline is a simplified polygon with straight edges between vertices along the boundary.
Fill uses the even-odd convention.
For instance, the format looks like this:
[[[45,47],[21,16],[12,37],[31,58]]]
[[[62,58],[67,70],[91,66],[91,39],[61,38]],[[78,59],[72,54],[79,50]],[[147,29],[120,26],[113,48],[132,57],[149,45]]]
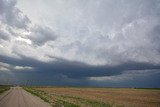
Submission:
[[[59,58],[57,58],[56,62],[52,63],[44,63],[26,57],[23,57],[23,59],[15,59],[0,56],[0,60],[1,62],[11,65],[34,67],[34,71],[37,72],[37,75],[38,73],[43,72],[46,73],[46,75],[65,75],[69,78],[116,76],[127,70],[160,69],[160,65],[136,62],[128,62],[118,66],[91,66],[80,62],[72,62]]]

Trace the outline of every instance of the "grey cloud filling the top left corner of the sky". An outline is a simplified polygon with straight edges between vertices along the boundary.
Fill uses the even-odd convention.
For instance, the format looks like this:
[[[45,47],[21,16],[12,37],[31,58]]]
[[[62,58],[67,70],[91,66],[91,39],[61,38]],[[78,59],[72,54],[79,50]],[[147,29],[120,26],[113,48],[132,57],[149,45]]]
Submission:
[[[15,5],[16,0],[0,0],[0,21],[12,27],[27,28],[30,20]]]

